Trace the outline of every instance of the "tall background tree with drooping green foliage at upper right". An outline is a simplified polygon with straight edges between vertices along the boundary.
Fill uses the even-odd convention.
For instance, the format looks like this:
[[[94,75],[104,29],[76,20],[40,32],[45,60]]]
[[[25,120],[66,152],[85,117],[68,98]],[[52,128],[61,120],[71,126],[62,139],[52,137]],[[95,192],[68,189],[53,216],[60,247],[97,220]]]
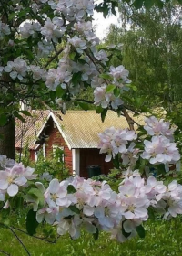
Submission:
[[[162,9],[153,7],[149,11],[136,11],[127,4],[120,7],[124,26],[110,27],[106,38],[106,45],[122,45],[113,63],[123,59],[137,88],[133,95],[141,97],[143,104],[175,110],[182,96],[181,6],[168,3]]]

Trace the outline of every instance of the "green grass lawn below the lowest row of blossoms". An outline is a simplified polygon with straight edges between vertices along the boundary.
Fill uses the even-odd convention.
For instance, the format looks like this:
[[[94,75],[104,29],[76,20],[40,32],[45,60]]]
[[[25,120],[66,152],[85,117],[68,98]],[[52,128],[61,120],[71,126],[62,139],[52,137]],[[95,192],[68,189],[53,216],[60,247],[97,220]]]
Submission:
[[[18,226],[18,223],[17,223]],[[23,229],[23,228],[22,228]],[[147,221],[145,239],[128,240],[119,244],[110,240],[106,233],[100,234],[98,240],[83,233],[79,240],[71,240],[68,235],[59,238],[56,244],[29,237],[15,230],[32,256],[181,256],[182,225],[181,219],[170,221]],[[38,235],[38,234],[37,234]],[[0,228],[0,250],[12,256],[28,255],[10,229]],[[0,255],[5,255],[0,252]]]

